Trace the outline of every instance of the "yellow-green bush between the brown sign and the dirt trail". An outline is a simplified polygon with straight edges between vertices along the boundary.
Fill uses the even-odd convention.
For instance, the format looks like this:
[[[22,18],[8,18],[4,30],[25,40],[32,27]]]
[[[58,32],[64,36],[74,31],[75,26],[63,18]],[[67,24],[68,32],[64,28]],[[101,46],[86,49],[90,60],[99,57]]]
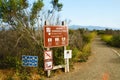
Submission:
[[[69,48],[72,49],[71,63],[87,61],[91,53],[91,41],[96,37],[97,33],[86,30],[82,30],[81,33],[81,30],[79,29],[76,32],[73,32],[73,35],[73,37],[70,38],[71,43],[73,43],[70,43],[69,46]]]

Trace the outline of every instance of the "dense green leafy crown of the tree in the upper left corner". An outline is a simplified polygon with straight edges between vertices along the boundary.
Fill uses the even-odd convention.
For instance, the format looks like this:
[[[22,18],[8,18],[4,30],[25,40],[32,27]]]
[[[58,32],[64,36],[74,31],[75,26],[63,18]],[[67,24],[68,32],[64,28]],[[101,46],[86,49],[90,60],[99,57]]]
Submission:
[[[32,8],[27,0],[0,0],[0,18],[14,28],[26,27],[29,17],[32,23],[43,6],[42,0],[34,2]]]

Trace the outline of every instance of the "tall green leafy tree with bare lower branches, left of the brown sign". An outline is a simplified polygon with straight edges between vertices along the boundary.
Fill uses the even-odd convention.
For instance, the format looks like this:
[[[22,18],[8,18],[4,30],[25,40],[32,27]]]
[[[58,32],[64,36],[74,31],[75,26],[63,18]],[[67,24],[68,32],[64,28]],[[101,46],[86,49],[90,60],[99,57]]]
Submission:
[[[51,3],[53,9],[50,14],[54,15],[55,11],[62,9],[62,4],[59,3],[59,0],[52,0]],[[35,33],[34,25],[37,23],[38,15],[43,6],[43,0],[37,0],[31,6],[28,0],[0,0],[0,19],[2,19],[2,22],[8,23],[12,29],[17,30],[21,36],[24,36],[23,33],[25,35],[28,34],[40,45],[39,39],[36,38],[37,34]],[[16,44],[19,42],[19,38]]]

